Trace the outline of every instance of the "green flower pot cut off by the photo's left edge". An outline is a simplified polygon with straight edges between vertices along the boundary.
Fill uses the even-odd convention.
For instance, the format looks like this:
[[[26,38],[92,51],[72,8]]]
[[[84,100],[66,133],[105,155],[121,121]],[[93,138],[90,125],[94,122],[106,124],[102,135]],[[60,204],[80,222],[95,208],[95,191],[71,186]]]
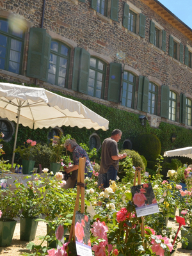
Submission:
[[[0,221],[0,246],[10,246],[17,221]]]

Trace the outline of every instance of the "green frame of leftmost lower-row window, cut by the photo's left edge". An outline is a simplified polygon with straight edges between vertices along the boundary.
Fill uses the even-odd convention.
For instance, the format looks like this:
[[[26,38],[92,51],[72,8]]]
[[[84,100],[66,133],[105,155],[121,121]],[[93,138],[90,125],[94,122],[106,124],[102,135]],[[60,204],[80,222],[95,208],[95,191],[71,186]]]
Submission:
[[[4,19],[4,18],[1,18],[0,17],[0,20],[4,20],[6,22],[8,22],[8,19]],[[5,61],[4,61],[4,69],[3,70],[6,70],[8,72],[12,72],[9,70],[9,62],[10,62],[10,51],[11,51],[11,44],[12,44],[12,39],[13,40],[17,40],[19,42],[21,42],[21,51],[20,51],[20,61],[17,62],[19,63],[19,72],[16,73],[16,72],[12,72],[13,74],[21,74],[22,73],[22,63],[23,63],[23,53],[24,53],[24,37],[25,37],[25,32],[24,32],[24,29],[22,29],[22,37],[19,37],[19,36],[15,36],[15,35],[12,35],[12,28],[10,28],[10,24],[8,22],[8,32],[5,32],[3,30],[0,30],[0,34],[3,35],[3,36],[6,36],[7,38],[7,46],[6,46],[6,56],[5,56]],[[13,50],[15,51],[15,50]]]

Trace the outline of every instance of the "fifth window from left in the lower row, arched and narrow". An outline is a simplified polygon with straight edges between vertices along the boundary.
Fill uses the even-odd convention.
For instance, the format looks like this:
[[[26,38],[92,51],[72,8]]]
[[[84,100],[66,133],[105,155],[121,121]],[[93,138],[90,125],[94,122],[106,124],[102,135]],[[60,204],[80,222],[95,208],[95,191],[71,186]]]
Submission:
[[[154,83],[148,84],[148,113],[157,115],[157,86]]]

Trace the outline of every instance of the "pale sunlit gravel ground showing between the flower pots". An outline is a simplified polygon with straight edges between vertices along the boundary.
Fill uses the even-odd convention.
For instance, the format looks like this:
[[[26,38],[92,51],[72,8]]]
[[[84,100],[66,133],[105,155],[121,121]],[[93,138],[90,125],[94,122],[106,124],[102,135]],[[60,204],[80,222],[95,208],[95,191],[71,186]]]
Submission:
[[[175,221],[168,221],[168,227],[173,227],[177,230],[179,224],[175,223]],[[42,241],[38,239],[38,236],[45,236],[47,232],[46,224],[43,221],[38,223],[38,227],[36,230],[36,237],[33,241],[35,244],[40,244]],[[179,234],[180,235],[180,234]],[[15,227],[15,232],[13,234],[12,245],[8,247],[0,247],[0,255],[4,256],[19,256],[24,252],[30,253],[29,250],[26,249],[26,245],[28,242],[20,241],[20,223],[17,221],[17,225]],[[46,246],[46,242],[44,244]],[[175,256],[189,256],[192,255],[192,250],[184,250],[181,248],[181,244],[177,246],[177,250],[175,252]]]

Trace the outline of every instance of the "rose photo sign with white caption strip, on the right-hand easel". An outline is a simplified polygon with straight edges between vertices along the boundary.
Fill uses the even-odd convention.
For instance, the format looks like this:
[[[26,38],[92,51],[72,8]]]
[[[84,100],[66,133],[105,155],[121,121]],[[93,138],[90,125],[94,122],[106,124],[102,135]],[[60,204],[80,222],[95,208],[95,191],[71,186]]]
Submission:
[[[137,217],[159,212],[159,207],[151,183],[132,186],[131,193]]]

